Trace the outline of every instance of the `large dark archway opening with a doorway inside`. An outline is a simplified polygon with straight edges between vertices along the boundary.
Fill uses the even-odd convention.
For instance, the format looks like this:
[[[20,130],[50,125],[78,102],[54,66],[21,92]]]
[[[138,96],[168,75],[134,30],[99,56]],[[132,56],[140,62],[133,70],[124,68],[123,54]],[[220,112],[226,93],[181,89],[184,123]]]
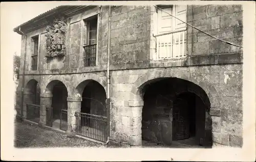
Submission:
[[[151,80],[141,92],[143,145],[211,146],[211,137],[205,130],[210,104],[201,87],[169,77]]]

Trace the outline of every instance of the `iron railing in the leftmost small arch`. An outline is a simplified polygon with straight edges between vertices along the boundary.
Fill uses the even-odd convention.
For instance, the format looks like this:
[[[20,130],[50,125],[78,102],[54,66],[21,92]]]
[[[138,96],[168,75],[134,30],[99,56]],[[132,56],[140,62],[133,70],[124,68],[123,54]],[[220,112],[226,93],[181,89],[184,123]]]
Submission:
[[[27,120],[38,123],[40,118],[40,105],[27,104]]]

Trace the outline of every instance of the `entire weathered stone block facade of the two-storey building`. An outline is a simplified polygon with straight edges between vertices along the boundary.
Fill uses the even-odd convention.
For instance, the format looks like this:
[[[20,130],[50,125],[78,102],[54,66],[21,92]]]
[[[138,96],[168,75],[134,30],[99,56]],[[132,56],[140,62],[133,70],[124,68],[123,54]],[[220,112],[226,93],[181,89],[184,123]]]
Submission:
[[[84,67],[84,19],[98,16],[98,52],[96,66]],[[177,77],[189,81],[185,90],[200,96],[205,104],[204,140],[227,146],[242,146],[242,48],[233,46],[187,26],[187,57],[153,60],[156,8],[116,6],[111,8],[110,34],[110,140],[119,144],[142,144],[144,89],[158,78]],[[242,45],[242,6],[190,5],[187,22],[201,31],[234,44]],[[75,112],[80,112],[83,89],[89,80],[98,82],[107,92],[109,8],[92,7],[67,18],[66,56],[46,58],[46,26],[22,36],[21,66],[26,53],[24,105],[30,103],[27,90],[31,79],[40,86],[40,124],[46,124],[46,106],[52,104],[52,90],[58,81],[68,92],[68,133],[75,132]],[[31,37],[39,35],[38,68],[31,70]],[[22,95],[20,70],[16,110],[20,116]],[[183,86],[184,87],[184,86]],[[180,88],[180,89],[179,89]],[[177,95],[182,87],[170,95]],[[204,95],[201,95],[204,94]],[[105,95],[105,94],[104,94]],[[103,97],[101,98],[104,98]],[[172,99],[171,99],[172,100]],[[174,100],[172,100],[174,101]],[[145,105],[144,105],[145,106]],[[103,112],[105,114],[105,112]],[[26,107],[24,106],[24,117]],[[155,119],[152,119],[155,120]],[[158,119],[159,120],[159,119]],[[164,120],[159,120],[164,123]],[[168,122],[157,129],[157,142],[172,137]],[[167,125],[167,126],[166,126]],[[169,131],[169,134],[166,132]],[[154,131],[152,131],[154,132]],[[164,137],[165,136],[165,137]],[[160,140],[159,140],[160,139]],[[172,140],[169,142],[171,143]],[[206,140],[207,141],[207,140]],[[209,140],[208,140],[209,141]],[[167,142],[168,143],[168,142]]]

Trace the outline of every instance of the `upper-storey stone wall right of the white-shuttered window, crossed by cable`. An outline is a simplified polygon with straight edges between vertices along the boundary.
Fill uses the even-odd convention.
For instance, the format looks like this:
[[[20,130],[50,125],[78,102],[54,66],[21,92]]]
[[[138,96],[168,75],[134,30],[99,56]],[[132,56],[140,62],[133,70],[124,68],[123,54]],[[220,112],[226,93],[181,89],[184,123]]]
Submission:
[[[189,24],[224,41],[242,45],[242,5],[191,5],[188,6],[187,12]],[[187,26],[189,56],[209,56],[242,51],[240,47],[216,40],[199,30]]]

